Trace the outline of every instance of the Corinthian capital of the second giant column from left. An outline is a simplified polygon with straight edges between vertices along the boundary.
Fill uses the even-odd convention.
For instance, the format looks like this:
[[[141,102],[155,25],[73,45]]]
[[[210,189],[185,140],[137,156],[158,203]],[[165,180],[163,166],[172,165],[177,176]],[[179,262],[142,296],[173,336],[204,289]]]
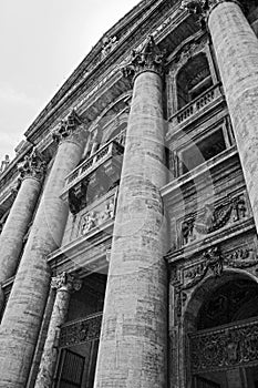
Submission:
[[[56,143],[63,141],[75,141],[81,142],[85,136],[86,132],[83,121],[80,119],[78,113],[72,110],[66,120],[62,120],[58,130],[52,133],[52,137]]]

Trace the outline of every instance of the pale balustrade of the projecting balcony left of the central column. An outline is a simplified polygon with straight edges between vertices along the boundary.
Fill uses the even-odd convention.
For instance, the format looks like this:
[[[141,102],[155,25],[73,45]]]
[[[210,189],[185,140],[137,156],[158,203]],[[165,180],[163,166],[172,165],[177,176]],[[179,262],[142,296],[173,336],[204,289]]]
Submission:
[[[96,170],[101,164],[113,156],[122,155],[124,147],[115,140],[110,141],[102,146],[94,155],[85,160],[79,167],[76,167],[65,180],[65,192],[86,177],[91,172]]]

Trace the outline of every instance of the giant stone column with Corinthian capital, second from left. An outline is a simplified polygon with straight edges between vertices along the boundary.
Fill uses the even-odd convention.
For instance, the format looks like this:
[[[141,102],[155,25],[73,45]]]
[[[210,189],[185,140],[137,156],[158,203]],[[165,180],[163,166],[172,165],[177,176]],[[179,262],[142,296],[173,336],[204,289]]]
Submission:
[[[0,326],[1,388],[25,386],[50,287],[47,256],[60,247],[69,212],[60,194],[65,176],[81,159],[83,134],[83,125],[72,112],[54,135],[58,152]]]

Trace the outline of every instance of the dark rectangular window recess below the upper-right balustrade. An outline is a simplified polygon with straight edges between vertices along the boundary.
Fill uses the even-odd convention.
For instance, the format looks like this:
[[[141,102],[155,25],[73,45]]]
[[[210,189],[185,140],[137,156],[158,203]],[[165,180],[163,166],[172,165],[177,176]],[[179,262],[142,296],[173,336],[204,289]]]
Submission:
[[[218,130],[204,140],[196,142],[182,153],[182,173],[195,169],[226,150],[223,130]]]

